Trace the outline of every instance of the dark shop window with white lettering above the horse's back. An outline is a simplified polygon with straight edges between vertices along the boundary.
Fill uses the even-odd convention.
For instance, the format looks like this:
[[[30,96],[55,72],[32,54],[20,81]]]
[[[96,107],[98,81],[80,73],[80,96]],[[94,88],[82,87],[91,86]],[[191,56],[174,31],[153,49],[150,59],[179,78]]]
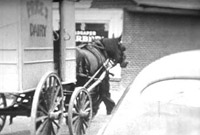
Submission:
[[[76,23],[76,45],[108,37],[106,23]]]

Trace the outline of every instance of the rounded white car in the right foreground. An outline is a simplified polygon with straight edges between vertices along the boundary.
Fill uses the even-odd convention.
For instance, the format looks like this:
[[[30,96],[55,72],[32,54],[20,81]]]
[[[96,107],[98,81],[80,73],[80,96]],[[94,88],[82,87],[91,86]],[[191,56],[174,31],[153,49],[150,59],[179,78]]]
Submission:
[[[145,67],[99,134],[200,134],[199,57],[200,50],[180,52]]]

